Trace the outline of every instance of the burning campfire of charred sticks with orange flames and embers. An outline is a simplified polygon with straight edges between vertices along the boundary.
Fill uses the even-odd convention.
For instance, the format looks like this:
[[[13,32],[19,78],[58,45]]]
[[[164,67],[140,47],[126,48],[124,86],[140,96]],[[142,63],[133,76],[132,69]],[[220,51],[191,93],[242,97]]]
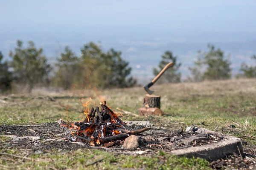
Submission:
[[[106,101],[99,103],[99,107],[92,107],[90,112],[84,112],[86,118],[84,121],[67,124],[59,119],[58,123],[61,127],[66,127],[71,138],[68,140],[77,141],[80,139],[90,146],[100,146],[113,141],[122,141],[130,135],[143,133],[149,130],[144,127],[139,130],[133,130],[128,127],[110,107],[106,105]]]

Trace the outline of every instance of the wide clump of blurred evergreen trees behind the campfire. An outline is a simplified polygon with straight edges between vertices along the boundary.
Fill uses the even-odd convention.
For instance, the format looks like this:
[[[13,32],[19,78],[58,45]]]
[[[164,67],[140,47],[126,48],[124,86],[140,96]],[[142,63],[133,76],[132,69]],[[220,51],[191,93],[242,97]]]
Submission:
[[[89,42],[81,48],[79,58],[66,48],[61,54],[61,59],[58,60],[55,79],[61,82],[58,84],[67,84],[65,89],[69,89],[71,84],[76,84],[80,88],[130,87],[137,81],[129,77],[131,67],[128,65],[129,63],[121,58],[121,52],[116,52],[114,49],[103,52],[101,46]]]

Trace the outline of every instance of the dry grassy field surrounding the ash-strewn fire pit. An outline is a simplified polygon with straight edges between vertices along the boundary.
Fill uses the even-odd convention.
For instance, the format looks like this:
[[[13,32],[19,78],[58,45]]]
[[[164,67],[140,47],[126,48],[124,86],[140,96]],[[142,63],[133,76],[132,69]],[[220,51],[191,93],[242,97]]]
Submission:
[[[72,90],[59,93],[38,92],[32,95],[0,97],[0,135],[12,135],[3,126],[65,121],[81,121],[82,104],[89,107],[105,99],[111,109],[117,107],[123,121],[151,121],[155,127],[179,129],[196,124],[216,132],[241,138],[244,153],[224,160],[177,158],[156,150],[151,156],[113,154],[101,149],[69,147],[63,142],[37,153],[31,147],[6,147],[9,138],[0,138],[0,169],[250,169],[256,156],[256,79],[212,81],[203,83],[164,84],[152,86],[161,95],[163,116],[141,116],[145,91],[142,87],[128,89]],[[83,98],[83,99],[81,99]],[[90,99],[91,98],[91,99]],[[90,103],[90,105],[89,105]],[[117,110],[117,109],[116,109]],[[129,113],[130,112],[130,113]],[[23,128],[20,126],[20,128]],[[50,128],[50,127],[49,127]],[[58,130],[58,129],[56,129]],[[7,133],[9,132],[9,133]],[[23,134],[20,134],[23,135]],[[26,134],[27,135],[27,134]],[[51,134],[48,134],[51,135]],[[59,147],[57,147],[59,146]],[[65,147],[67,146],[67,147]],[[60,149],[63,148],[63,149]],[[253,158],[246,161],[246,156]],[[98,162],[96,162],[98,161]]]

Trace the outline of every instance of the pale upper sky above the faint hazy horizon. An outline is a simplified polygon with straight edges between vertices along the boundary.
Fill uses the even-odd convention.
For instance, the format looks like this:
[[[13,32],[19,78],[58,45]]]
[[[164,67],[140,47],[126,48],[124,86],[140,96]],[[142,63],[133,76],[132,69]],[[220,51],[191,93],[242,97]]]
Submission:
[[[1,30],[255,32],[256,0],[1,0]],[[122,28],[122,30],[120,30]]]

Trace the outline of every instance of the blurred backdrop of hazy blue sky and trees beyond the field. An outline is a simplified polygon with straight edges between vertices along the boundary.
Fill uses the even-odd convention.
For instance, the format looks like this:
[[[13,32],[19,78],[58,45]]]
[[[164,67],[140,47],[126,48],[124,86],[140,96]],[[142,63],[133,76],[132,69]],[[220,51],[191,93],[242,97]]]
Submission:
[[[0,3],[0,90],[256,77],[253,0]]]

